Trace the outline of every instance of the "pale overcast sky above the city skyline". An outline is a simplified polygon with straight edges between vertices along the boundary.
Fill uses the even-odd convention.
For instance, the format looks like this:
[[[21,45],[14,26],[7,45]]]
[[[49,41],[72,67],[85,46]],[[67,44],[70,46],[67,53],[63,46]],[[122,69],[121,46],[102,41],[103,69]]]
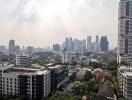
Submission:
[[[0,44],[36,47],[66,36],[108,35],[117,44],[119,0],[0,0]]]

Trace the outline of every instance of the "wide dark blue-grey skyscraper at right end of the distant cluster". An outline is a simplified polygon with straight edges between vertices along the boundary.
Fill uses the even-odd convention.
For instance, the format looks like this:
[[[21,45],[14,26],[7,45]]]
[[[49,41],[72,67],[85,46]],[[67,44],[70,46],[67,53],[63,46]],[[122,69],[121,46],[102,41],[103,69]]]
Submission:
[[[107,52],[109,49],[109,42],[107,40],[107,36],[102,36],[100,39],[100,47],[101,51]]]

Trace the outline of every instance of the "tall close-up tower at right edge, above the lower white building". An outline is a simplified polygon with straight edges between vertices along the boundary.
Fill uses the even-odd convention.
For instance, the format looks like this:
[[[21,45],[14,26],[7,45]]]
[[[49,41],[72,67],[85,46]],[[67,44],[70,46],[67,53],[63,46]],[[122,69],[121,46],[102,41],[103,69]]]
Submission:
[[[132,62],[132,0],[119,3],[118,62]]]

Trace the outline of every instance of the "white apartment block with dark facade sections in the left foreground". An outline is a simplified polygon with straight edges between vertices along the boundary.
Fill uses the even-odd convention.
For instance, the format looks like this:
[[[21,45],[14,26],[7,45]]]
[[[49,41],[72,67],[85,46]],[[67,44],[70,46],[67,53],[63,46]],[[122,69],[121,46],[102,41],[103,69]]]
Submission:
[[[44,69],[0,67],[0,93],[41,100],[51,93],[51,73]]]

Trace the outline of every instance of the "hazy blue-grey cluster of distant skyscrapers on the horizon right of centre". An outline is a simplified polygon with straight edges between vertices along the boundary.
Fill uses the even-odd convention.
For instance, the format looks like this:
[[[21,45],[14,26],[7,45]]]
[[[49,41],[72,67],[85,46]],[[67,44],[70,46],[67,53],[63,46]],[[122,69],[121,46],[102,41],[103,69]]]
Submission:
[[[69,52],[107,52],[109,50],[109,41],[107,36],[96,36],[95,41],[93,41],[91,36],[87,39],[78,40],[72,37],[67,37],[62,44],[55,44],[53,49],[55,51],[67,51]]]

